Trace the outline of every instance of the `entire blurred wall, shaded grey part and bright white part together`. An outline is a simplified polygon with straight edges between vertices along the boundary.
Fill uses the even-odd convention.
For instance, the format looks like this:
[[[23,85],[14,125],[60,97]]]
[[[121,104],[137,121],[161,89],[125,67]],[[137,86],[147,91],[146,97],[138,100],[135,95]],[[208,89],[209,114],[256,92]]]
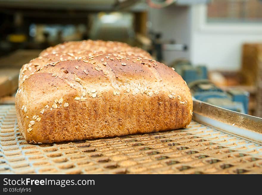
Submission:
[[[152,29],[163,33],[162,40],[188,45],[188,51],[163,51],[167,64],[185,57],[194,65],[205,64],[208,70],[239,70],[242,44],[262,42],[262,23],[206,23],[204,4],[149,8],[148,13]]]

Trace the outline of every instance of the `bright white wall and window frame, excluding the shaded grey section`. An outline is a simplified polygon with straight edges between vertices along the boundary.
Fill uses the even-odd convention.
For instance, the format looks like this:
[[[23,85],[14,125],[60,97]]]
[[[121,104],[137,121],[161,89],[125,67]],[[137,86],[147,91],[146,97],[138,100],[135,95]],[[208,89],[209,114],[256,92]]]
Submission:
[[[193,64],[209,70],[239,70],[241,46],[262,42],[262,24],[214,24],[205,22],[205,5],[191,7],[191,53]]]

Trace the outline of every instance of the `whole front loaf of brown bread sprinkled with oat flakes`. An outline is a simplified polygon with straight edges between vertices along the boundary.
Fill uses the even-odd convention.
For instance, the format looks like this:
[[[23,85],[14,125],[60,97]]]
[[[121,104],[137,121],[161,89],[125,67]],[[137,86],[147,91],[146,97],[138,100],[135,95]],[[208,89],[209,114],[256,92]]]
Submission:
[[[52,52],[45,55],[55,55]],[[84,55],[57,62],[54,58],[24,78],[15,108],[26,141],[123,136],[190,123],[191,94],[172,68],[127,53]]]

